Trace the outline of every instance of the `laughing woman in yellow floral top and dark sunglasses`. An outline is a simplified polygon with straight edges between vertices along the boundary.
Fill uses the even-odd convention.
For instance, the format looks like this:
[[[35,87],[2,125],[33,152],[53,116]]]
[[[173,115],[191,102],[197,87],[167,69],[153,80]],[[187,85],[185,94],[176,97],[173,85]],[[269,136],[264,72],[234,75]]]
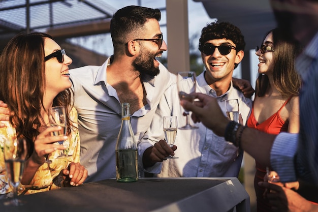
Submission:
[[[10,111],[0,135],[16,133],[27,141],[28,158],[21,184],[36,189],[27,193],[77,186],[87,176],[87,170],[79,163],[77,112],[71,104],[72,83],[68,73],[71,63],[65,51],[44,33],[19,34],[0,55],[0,99]],[[67,136],[51,135],[58,128],[49,125],[48,111],[53,106],[66,108]],[[56,145],[60,140],[65,140],[66,145]],[[66,148],[70,157],[54,159],[59,149]],[[10,192],[4,164],[0,150],[0,194]]]

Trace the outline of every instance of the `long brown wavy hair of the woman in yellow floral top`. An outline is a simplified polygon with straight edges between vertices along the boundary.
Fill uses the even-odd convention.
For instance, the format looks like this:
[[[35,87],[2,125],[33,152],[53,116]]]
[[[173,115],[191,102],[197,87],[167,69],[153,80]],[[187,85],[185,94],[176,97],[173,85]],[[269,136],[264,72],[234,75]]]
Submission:
[[[34,149],[34,140],[40,134],[41,110],[45,92],[44,39],[53,38],[44,33],[16,35],[0,55],[0,100],[8,104],[10,123],[17,137],[28,142],[29,156]],[[71,133],[72,90],[60,92],[53,106],[67,108],[67,134]]]

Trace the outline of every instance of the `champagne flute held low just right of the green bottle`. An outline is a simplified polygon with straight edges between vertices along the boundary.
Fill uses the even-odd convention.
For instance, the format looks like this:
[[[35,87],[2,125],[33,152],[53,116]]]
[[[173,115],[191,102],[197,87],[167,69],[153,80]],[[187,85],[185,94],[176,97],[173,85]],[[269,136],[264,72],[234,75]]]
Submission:
[[[177,116],[164,116],[164,132],[167,144],[172,147],[176,139],[178,130]],[[168,156],[165,159],[175,159],[178,157]]]

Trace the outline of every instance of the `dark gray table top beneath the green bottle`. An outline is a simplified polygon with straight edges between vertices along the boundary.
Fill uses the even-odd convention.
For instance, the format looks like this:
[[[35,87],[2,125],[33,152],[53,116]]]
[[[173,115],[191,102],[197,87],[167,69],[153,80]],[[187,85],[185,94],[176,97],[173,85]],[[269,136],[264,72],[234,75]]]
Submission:
[[[81,212],[81,211],[153,211],[173,202],[224,184],[229,178],[142,178],[135,183],[117,183],[107,179],[78,187],[20,196],[23,206],[4,206],[0,211]],[[214,194],[215,196],[218,193]],[[211,197],[212,198],[212,197]]]

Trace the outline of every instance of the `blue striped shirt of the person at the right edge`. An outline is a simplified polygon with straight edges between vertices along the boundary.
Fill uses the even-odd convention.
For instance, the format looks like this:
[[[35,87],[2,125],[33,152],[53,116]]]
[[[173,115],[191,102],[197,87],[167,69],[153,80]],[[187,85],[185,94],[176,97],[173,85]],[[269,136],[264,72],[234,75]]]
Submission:
[[[318,185],[318,33],[296,60],[302,78],[299,135],[278,135],[271,149],[271,166],[283,182],[301,178]]]

